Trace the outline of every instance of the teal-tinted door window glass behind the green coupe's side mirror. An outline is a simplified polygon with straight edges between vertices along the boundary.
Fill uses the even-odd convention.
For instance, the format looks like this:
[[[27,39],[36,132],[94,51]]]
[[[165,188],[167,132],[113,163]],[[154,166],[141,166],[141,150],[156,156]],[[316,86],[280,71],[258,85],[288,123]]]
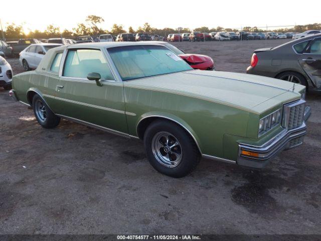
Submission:
[[[114,79],[100,50],[77,49],[68,51],[63,76],[87,78],[87,75],[91,72],[99,73],[101,79]]]

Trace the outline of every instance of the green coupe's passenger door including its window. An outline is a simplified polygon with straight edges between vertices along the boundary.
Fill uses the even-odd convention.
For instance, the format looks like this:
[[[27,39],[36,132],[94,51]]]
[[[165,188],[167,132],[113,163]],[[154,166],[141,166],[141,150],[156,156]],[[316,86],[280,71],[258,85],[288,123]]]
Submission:
[[[66,50],[56,88],[59,114],[76,122],[127,133],[123,83],[115,80],[104,54],[100,49]],[[101,81],[88,80],[91,72],[99,73]]]

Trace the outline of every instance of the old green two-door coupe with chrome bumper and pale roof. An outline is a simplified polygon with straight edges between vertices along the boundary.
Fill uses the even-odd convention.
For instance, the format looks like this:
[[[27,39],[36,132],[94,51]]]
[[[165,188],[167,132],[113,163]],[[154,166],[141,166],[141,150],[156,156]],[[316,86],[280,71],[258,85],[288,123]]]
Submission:
[[[264,167],[302,144],[310,113],[300,84],[193,70],[159,42],[53,48],[12,85],[10,95],[32,106],[42,127],[66,118],[139,138],[150,164],[173,177],[201,157]]]

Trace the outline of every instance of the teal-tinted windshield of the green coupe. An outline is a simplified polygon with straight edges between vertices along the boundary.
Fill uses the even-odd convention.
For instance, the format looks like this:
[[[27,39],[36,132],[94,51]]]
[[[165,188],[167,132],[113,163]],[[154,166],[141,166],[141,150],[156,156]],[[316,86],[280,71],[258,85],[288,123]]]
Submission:
[[[122,80],[192,70],[182,58],[164,46],[140,45],[109,48]]]

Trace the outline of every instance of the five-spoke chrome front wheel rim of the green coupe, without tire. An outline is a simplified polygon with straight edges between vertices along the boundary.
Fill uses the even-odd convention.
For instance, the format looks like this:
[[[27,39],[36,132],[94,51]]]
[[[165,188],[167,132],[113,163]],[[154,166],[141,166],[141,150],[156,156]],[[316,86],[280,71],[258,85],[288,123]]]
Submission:
[[[183,157],[181,144],[168,132],[158,132],[152,138],[151,149],[156,160],[166,167],[177,167]]]

